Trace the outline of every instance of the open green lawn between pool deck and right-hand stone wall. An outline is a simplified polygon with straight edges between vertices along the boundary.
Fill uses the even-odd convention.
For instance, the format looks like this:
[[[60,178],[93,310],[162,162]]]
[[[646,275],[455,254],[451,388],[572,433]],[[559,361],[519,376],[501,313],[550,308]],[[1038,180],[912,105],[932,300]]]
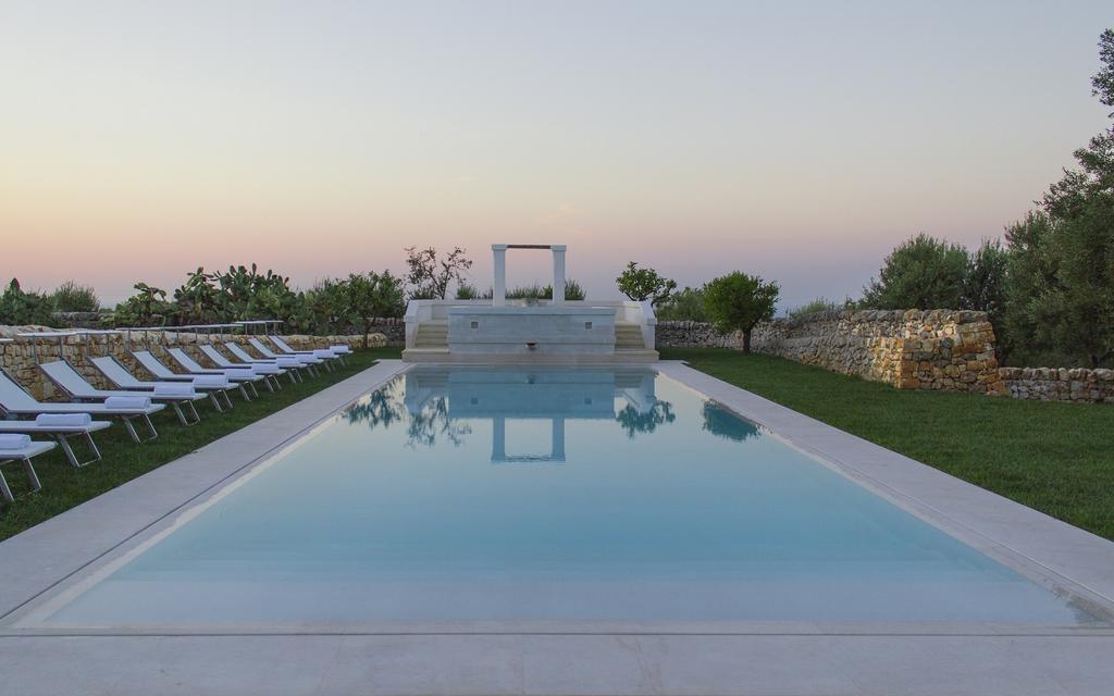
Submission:
[[[902,391],[729,350],[662,357],[1114,539],[1112,404]]]

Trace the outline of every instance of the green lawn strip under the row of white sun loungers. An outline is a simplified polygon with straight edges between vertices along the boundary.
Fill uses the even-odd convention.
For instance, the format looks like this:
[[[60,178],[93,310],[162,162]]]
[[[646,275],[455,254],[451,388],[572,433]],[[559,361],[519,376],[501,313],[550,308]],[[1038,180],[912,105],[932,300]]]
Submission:
[[[27,491],[27,477],[18,463],[4,464],[4,474],[16,493],[16,502],[0,508],[0,539],[38,525],[60,512],[78,506],[90,498],[130,481],[152,469],[173,461],[207,444],[217,438],[240,430],[258,419],[270,415],[284,406],[305,399],[314,392],[340,382],[372,365],[381,357],[398,357],[399,349],[372,349],[356,351],[349,356],[349,366],[333,372],[319,370],[320,376],[305,376],[305,381],[291,384],[283,379],[283,389],[270,393],[260,386],[260,398],[244,403],[238,392],[233,392],[233,409],[217,413],[212,404],[198,402],[197,411],[202,422],[192,428],[178,424],[170,409],[164,409],[152,420],[158,429],[158,438],[152,442],[131,442],[124,428],[116,421],[110,429],[96,433],[97,445],[104,459],[82,469],[75,469],[66,461],[58,448],[35,458],[35,469],[42,481],[42,490],[19,497]],[[138,425],[137,425],[138,428]],[[75,442],[78,457],[85,454],[84,445]],[[2,499],[0,499],[2,504]]]

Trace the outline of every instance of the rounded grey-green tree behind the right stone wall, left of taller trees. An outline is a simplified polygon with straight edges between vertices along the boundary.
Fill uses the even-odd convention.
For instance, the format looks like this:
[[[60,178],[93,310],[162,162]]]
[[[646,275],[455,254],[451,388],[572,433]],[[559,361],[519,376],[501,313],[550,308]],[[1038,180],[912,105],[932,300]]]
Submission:
[[[863,304],[876,310],[959,308],[968,264],[967,249],[921,233],[886,257],[878,280],[863,288]]]

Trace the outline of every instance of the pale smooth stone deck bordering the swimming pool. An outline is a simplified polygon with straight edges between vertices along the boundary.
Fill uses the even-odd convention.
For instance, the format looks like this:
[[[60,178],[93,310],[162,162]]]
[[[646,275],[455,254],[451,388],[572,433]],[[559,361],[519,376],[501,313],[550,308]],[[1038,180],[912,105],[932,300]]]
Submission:
[[[677,362],[651,365],[1037,582],[1114,610],[1114,543]],[[1114,693],[1114,628],[547,625],[45,629],[87,579],[409,366],[377,365],[0,542],[0,695]]]

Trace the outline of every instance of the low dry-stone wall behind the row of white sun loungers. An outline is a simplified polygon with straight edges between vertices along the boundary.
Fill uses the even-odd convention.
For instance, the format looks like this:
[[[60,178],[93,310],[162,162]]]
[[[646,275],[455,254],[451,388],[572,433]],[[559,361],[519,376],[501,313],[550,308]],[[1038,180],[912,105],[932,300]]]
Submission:
[[[42,326],[0,326],[0,336],[12,337],[17,333],[36,331],[50,330]],[[135,361],[135,359],[131,357],[129,354],[130,350],[149,349],[153,353],[155,353],[155,355],[163,360],[164,363],[174,370],[175,363],[166,353],[165,347],[167,344],[172,347],[182,346],[185,349],[186,353],[188,353],[202,365],[205,365],[206,367],[215,367],[216,365],[214,365],[197,347],[198,343],[223,343],[232,340],[244,345],[244,349],[252,355],[262,357],[262,355],[257,354],[255,349],[247,344],[247,339],[248,336],[243,335],[228,336],[196,333],[167,334],[154,331],[131,332],[130,345],[127,343],[127,337],[124,334],[66,336],[62,339],[61,345],[59,345],[57,339],[36,339],[33,342],[31,340],[18,339],[12,343],[0,343],[0,366],[14,376],[16,380],[30,391],[36,399],[51,400],[60,399],[60,394],[57,393],[57,390],[50,381],[46,379],[42,371],[38,369],[35,359],[36,352],[38,352],[39,361],[41,362],[49,362],[59,359],[68,360],[90,383],[100,389],[116,389],[115,385],[110,384],[101,376],[100,372],[97,371],[97,369],[94,367],[87,360],[87,356],[96,357],[105,354],[113,355],[140,379],[153,380],[154,376],[147,374],[147,372]],[[363,345],[363,336],[360,335],[290,335],[284,336],[284,339],[294,350],[312,350],[336,344],[349,345],[353,349],[358,349]],[[266,343],[266,341],[264,341],[264,343]],[[379,333],[369,334],[368,343],[372,347],[382,347],[387,345],[387,337]]]

